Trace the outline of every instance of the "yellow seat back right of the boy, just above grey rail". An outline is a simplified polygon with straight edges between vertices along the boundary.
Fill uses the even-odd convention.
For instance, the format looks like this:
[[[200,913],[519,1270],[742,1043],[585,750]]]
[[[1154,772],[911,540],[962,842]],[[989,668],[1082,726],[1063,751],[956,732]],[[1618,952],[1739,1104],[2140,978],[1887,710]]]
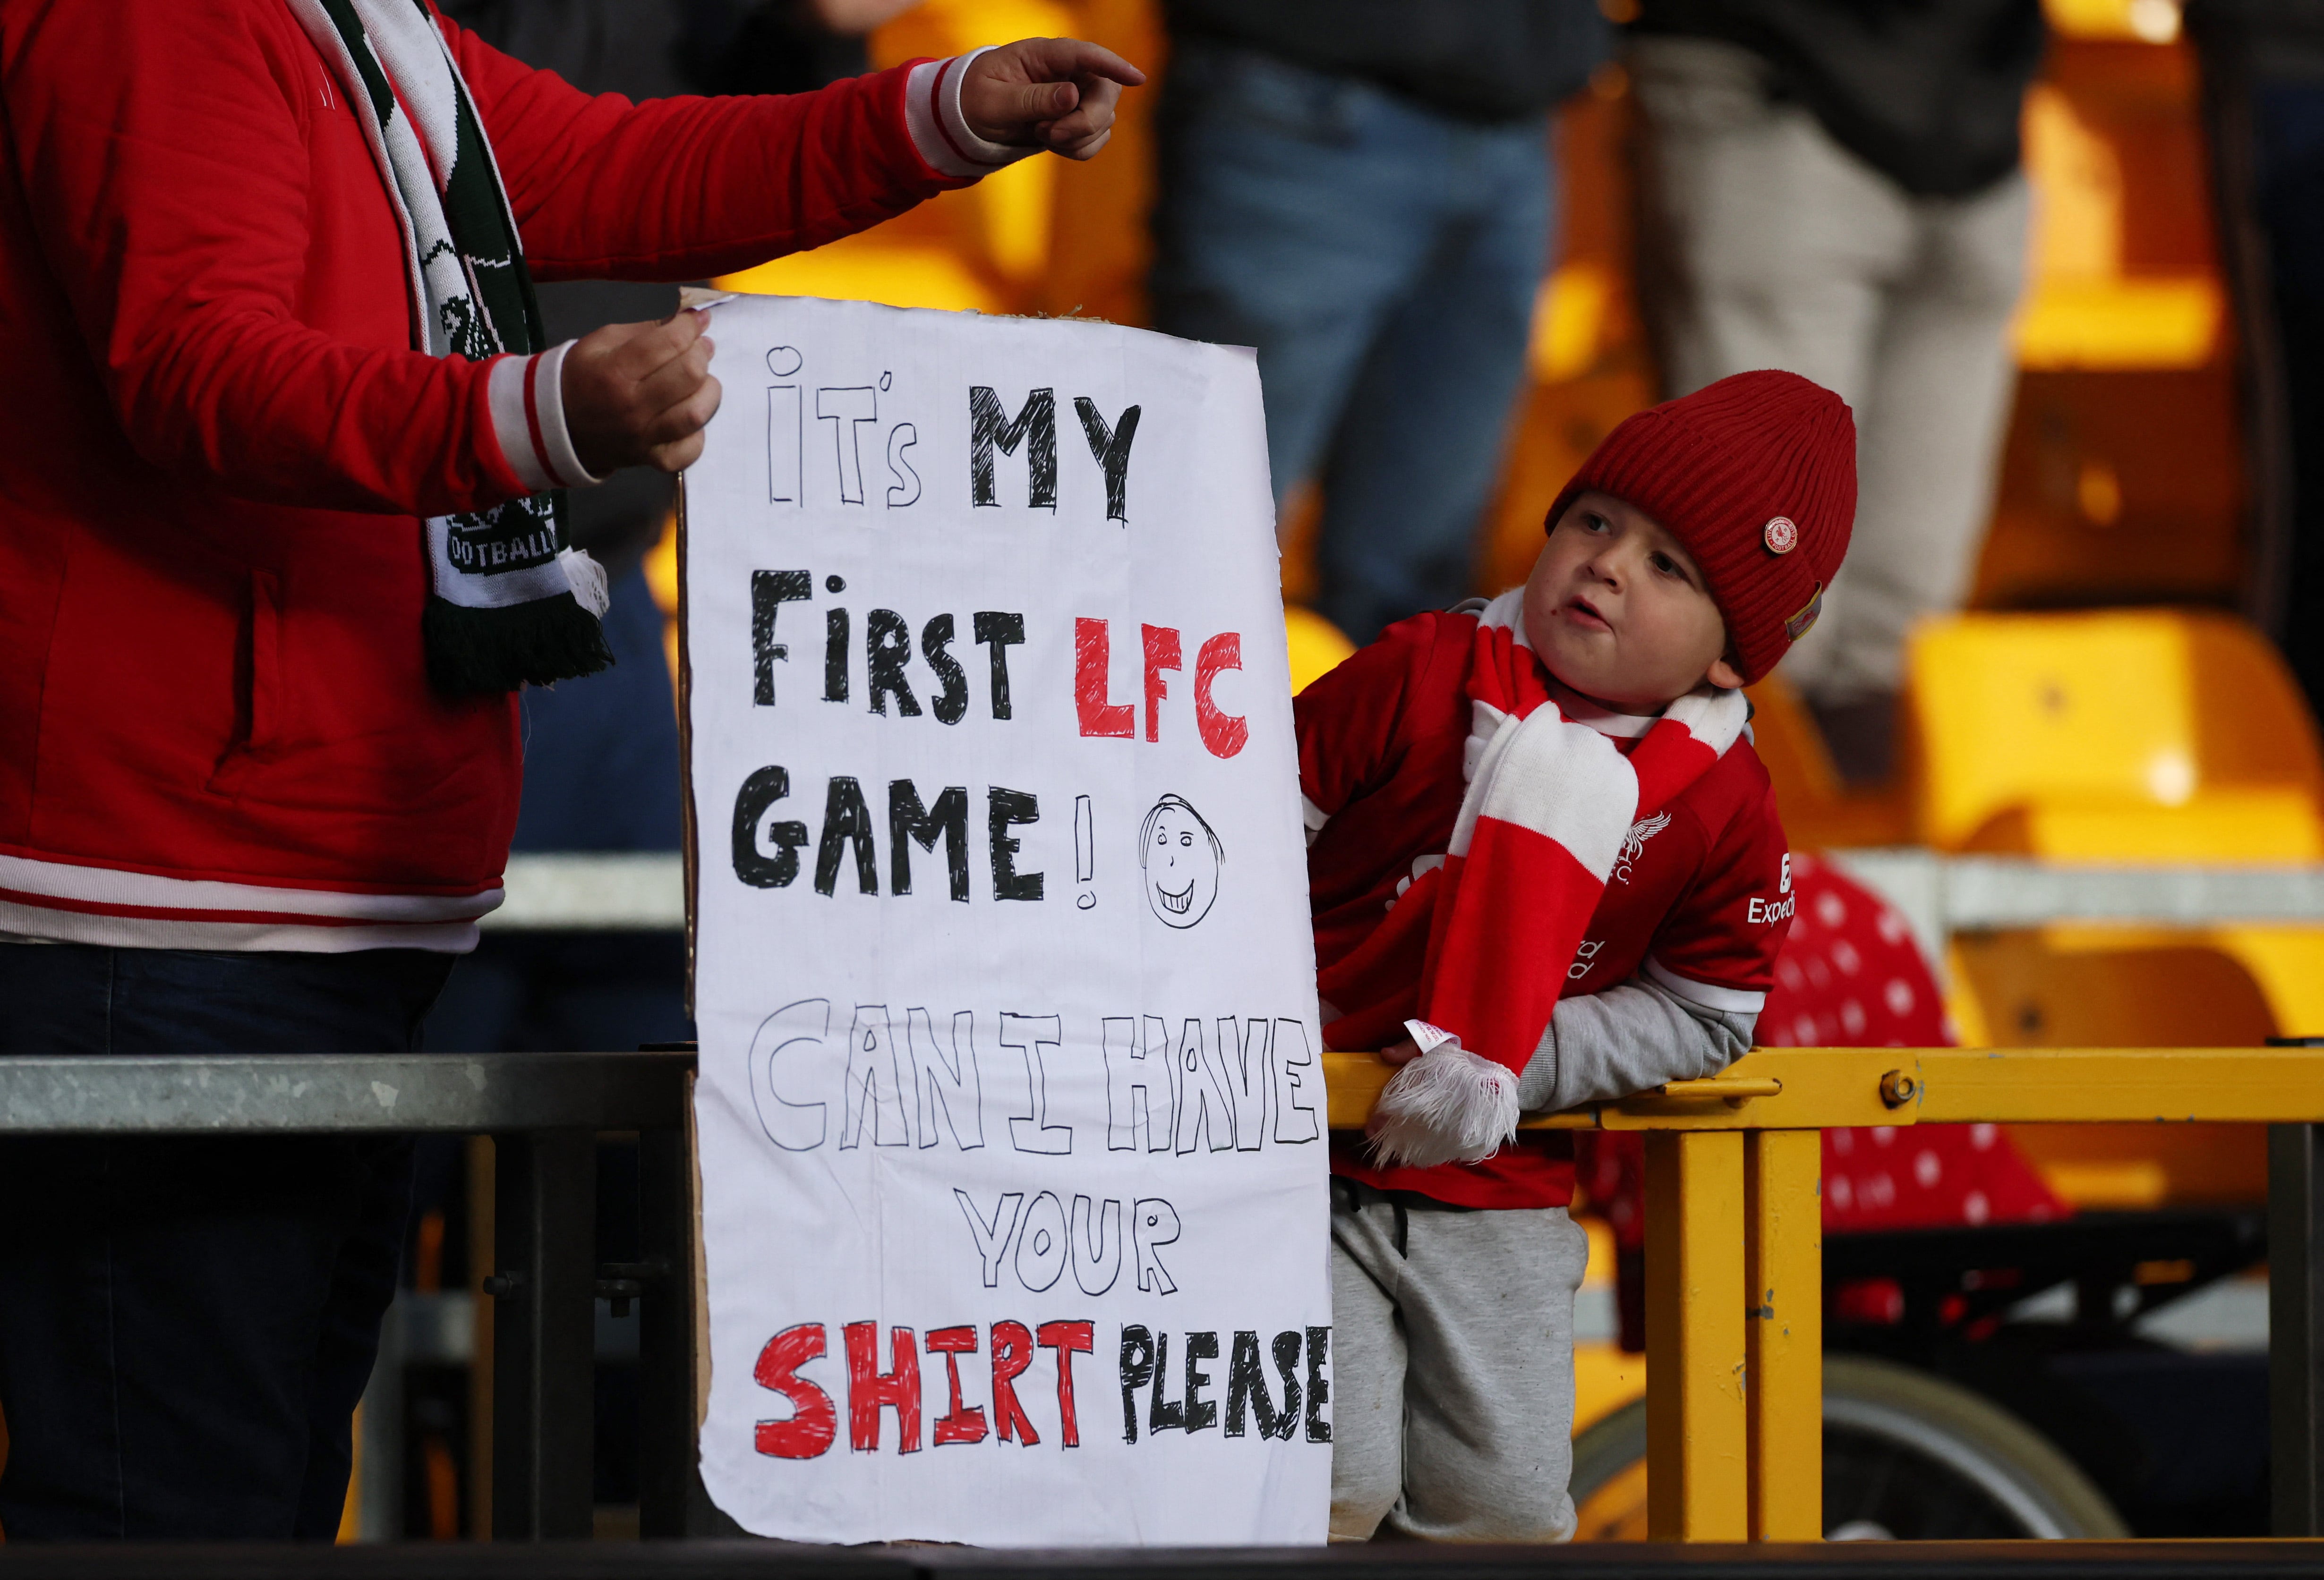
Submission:
[[[2275,651],[2217,613],[1973,613],[1913,639],[1915,823],[2064,862],[2324,860],[2324,767]]]

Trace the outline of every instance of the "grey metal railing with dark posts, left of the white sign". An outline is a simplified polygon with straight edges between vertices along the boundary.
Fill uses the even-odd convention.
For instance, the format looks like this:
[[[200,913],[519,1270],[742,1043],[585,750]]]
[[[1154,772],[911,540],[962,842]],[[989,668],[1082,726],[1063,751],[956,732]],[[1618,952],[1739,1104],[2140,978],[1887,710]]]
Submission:
[[[600,1292],[639,1304],[639,1534],[695,1482],[693,1053],[0,1057],[0,1136],[493,1139],[493,1536],[590,1534]],[[637,1132],[641,1257],[597,1266],[597,1134]]]

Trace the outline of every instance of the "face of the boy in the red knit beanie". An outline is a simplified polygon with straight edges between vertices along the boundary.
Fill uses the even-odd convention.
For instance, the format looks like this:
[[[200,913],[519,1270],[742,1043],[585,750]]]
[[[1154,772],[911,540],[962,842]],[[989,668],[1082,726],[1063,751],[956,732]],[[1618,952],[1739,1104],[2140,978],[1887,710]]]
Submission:
[[[1727,623],[1694,558],[1634,504],[1585,493],[1525,579],[1525,639],[1597,702],[1657,713],[1706,678],[1741,685]]]

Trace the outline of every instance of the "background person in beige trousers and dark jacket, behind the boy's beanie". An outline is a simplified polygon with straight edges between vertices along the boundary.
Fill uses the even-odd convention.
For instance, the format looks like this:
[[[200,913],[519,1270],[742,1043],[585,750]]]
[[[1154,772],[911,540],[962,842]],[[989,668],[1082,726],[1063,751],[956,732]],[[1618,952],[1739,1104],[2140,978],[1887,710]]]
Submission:
[[[1787,669],[1850,785],[1889,778],[1903,639],[1959,609],[2024,283],[2040,0],[1643,0],[1641,300],[1666,395],[1750,367],[1857,414],[1855,551]]]

